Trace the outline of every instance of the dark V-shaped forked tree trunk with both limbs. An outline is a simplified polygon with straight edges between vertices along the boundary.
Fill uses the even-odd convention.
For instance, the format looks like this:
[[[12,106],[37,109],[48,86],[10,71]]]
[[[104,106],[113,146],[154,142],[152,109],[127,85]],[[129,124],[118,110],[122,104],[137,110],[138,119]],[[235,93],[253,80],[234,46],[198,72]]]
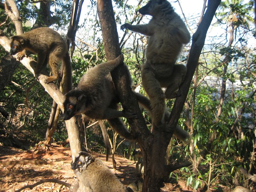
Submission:
[[[183,94],[181,97],[176,99],[170,116],[169,124],[172,126],[173,130],[177,125],[180,113],[185,103],[188,89],[195,72],[201,50],[204,46],[207,30],[219,4],[220,0],[211,0],[208,2],[207,11],[202,19],[202,22],[198,26],[198,30],[193,35],[193,44],[187,65],[188,74],[185,82],[180,87]],[[98,0],[97,5],[106,57],[107,60],[113,60],[121,54],[121,51],[118,43],[118,34],[116,30],[112,2],[111,0]],[[119,95],[124,110],[140,114],[139,106],[137,102],[135,102],[136,98],[130,90],[127,75],[128,74],[126,74],[123,66],[119,66],[113,72],[111,72],[112,79],[116,86],[116,91]],[[141,114],[139,115],[138,119],[128,119],[128,122],[131,126],[133,134],[140,132],[140,136],[138,137],[137,141],[144,155],[144,180],[142,191],[159,191],[164,176],[168,174],[167,170],[170,171],[174,168],[166,167],[165,172],[157,172],[157,170],[163,170],[164,164],[159,162],[164,162],[164,156],[172,137],[172,133],[163,134],[161,132],[156,132],[153,136],[145,126],[145,121]],[[156,150],[159,149],[159,146],[160,150]],[[157,160],[159,160],[159,162],[157,162]]]

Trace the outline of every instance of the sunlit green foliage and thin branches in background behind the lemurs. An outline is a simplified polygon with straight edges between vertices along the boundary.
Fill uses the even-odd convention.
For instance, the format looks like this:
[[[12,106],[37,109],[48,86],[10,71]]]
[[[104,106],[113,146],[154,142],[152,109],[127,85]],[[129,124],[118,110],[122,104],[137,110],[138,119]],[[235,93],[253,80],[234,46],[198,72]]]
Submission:
[[[55,29],[65,30],[67,28],[71,3],[71,1],[64,0],[51,1],[52,15],[58,17],[58,22],[54,25]],[[140,22],[140,15],[136,15],[136,12],[145,3],[146,1],[142,1],[140,5],[137,5],[130,1],[113,1],[117,28],[124,22],[134,21],[133,24]],[[37,18],[38,4],[31,4],[28,1],[17,1],[17,4],[24,24]],[[87,4],[84,13],[85,19],[79,23],[77,32],[79,39],[76,39],[76,50],[72,58],[74,88],[88,69],[105,61],[100,23],[95,8],[96,1]],[[256,50],[253,36],[255,30],[252,23],[253,16],[252,0],[221,2],[221,6],[216,12],[217,20],[212,25],[212,31],[222,30],[223,34],[207,37],[198,63],[195,96],[193,95],[194,82],[192,82],[187,96],[187,106],[184,107],[179,120],[179,125],[190,132],[191,143],[185,145],[175,138],[170,143],[168,160],[172,164],[184,161],[195,163],[202,157],[207,146],[210,146],[196,167],[185,167],[179,172],[170,173],[173,180],[185,179],[187,185],[194,189],[203,186],[209,188],[213,185],[219,189],[220,184],[232,186],[234,183],[243,185],[244,182],[247,186],[255,186],[251,181],[246,180],[238,169],[243,167],[250,174],[256,174],[256,161],[253,156],[256,148]],[[5,20],[5,18],[6,14],[0,10],[0,19]],[[191,28],[193,26],[196,28],[197,19],[187,18],[187,21]],[[30,27],[24,26],[24,31],[29,29]],[[230,29],[234,29],[234,34],[230,34]],[[0,26],[0,30],[8,37],[15,34],[14,26],[9,18],[5,24]],[[212,33],[209,32],[209,34]],[[234,42],[232,45],[228,45],[232,35]],[[122,39],[123,33],[120,33],[119,36]],[[130,69],[133,88],[146,95],[141,84],[141,65],[145,62],[147,37],[128,32],[124,34],[120,45],[125,56],[125,64]],[[184,48],[184,52],[177,62],[185,64],[189,49],[189,45]],[[1,49],[0,54],[4,56],[6,53]],[[227,67],[226,73],[223,73],[224,67]],[[10,113],[10,119],[6,120],[1,116],[0,123],[7,130],[18,130],[18,136],[26,132],[24,134],[26,140],[35,144],[44,139],[45,128],[52,108],[52,99],[47,93],[44,94],[44,89],[39,83],[31,88],[28,96],[26,95],[34,80],[35,78],[22,65],[17,68],[12,82],[5,87],[0,95],[0,105]],[[225,94],[223,103],[220,104],[220,90],[223,88],[223,86],[221,87],[223,83],[225,84]],[[26,96],[28,97],[27,103],[25,102]],[[40,100],[37,102],[39,98]],[[26,112],[36,102],[36,108],[26,116]],[[166,100],[168,108],[171,109],[173,104],[174,100]],[[220,108],[220,116],[217,116]],[[141,112],[150,129],[150,114],[145,109],[141,109]],[[129,128],[126,120],[123,120]],[[24,125],[22,125],[23,122]],[[105,125],[110,138],[113,138],[114,133],[110,126],[107,122]],[[60,141],[66,138],[66,129],[60,120],[53,139]],[[105,152],[98,125],[86,129],[86,138],[89,149]],[[117,142],[121,140],[118,137]],[[129,143],[123,142],[116,152],[121,155],[127,154],[128,147]],[[196,168],[196,171],[193,168]]]

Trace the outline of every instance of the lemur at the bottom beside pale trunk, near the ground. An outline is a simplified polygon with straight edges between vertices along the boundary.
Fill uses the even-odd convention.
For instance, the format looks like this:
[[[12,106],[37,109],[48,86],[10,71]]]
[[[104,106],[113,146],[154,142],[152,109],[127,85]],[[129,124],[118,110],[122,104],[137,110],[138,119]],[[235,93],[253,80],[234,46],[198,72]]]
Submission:
[[[128,189],[117,179],[99,158],[80,151],[71,163],[78,180],[79,187],[93,192],[128,192]],[[89,188],[89,190],[88,190]]]

